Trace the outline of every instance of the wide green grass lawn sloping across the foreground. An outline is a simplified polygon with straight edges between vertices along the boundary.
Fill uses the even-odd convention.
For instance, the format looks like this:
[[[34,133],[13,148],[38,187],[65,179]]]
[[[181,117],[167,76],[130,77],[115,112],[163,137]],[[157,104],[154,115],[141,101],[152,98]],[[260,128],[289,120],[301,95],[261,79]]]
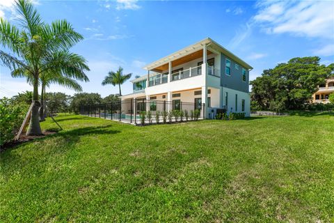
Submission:
[[[1,153],[0,222],[334,221],[332,114],[56,119],[63,131]]]

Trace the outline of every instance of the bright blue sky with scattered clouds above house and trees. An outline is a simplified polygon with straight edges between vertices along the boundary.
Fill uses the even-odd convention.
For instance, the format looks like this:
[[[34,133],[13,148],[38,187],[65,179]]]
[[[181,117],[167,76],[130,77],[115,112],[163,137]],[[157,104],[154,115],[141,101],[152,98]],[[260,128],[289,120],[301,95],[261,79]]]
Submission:
[[[33,1],[45,22],[66,19],[85,40],[86,92],[118,93],[101,86],[109,70],[144,75],[145,64],[210,37],[253,66],[250,79],[296,56],[334,63],[334,1]],[[0,17],[15,23],[13,0],[0,1]],[[0,97],[32,89],[1,66]],[[47,91],[74,91],[51,85]],[[132,84],[122,85],[131,93]]]

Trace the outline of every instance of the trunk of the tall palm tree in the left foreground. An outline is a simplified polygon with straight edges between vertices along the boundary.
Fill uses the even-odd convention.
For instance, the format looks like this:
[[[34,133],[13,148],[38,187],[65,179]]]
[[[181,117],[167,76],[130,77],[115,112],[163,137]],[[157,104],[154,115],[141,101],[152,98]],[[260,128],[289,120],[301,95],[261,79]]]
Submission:
[[[38,108],[40,102],[38,101],[38,75],[35,75],[33,79],[33,109],[31,110],[31,118],[26,135],[40,135],[42,130],[40,129],[40,117],[38,114]]]

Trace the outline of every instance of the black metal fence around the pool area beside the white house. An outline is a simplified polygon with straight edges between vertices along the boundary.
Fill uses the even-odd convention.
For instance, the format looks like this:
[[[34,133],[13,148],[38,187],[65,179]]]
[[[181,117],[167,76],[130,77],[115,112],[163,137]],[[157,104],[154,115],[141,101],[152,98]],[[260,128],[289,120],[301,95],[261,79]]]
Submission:
[[[80,114],[96,118],[134,123],[136,125],[196,121],[205,117],[204,103],[180,100],[131,99],[80,107]]]

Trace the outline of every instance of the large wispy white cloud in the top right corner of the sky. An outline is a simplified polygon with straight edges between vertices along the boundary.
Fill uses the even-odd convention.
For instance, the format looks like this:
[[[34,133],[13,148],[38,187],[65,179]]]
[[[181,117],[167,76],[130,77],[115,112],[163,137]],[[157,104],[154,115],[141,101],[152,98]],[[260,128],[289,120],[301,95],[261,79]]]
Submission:
[[[333,1],[264,1],[253,20],[268,33],[334,39]]]

